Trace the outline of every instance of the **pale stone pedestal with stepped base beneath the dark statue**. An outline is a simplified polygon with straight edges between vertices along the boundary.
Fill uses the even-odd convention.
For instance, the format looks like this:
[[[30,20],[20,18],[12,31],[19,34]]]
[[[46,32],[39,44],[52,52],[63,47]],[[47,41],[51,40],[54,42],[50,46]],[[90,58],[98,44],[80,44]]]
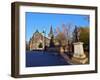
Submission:
[[[85,64],[87,62],[86,55],[84,54],[83,42],[73,43],[74,45],[74,54],[72,61],[80,64]]]

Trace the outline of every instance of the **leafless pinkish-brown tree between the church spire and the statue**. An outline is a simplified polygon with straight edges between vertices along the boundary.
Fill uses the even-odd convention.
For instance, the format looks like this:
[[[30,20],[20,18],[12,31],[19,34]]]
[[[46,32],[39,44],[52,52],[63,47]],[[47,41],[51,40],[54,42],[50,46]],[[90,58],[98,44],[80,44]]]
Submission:
[[[55,30],[55,39],[59,43],[59,45],[64,48],[70,47],[72,42],[72,32],[73,32],[72,24],[62,24],[61,28],[57,27]]]

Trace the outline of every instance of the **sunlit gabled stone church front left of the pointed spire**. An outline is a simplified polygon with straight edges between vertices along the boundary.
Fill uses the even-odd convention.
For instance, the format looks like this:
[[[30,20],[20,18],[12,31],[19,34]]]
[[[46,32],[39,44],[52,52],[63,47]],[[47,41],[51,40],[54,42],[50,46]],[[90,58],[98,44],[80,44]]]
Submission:
[[[50,39],[44,36],[44,33],[40,33],[38,30],[33,34],[29,40],[30,50],[43,50],[45,46],[49,46]]]

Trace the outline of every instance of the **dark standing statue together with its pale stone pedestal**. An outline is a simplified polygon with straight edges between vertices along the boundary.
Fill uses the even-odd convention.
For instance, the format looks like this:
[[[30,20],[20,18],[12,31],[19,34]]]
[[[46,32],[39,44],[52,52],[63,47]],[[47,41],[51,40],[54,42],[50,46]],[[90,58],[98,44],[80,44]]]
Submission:
[[[74,30],[74,54],[72,57],[72,61],[79,63],[79,64],[85,64],[88,60],[86,58],[86,55],[84,53],[84,48],[83,48],[83,42],[79,41],[79,36],[80,36],[80,31],[77,27],[75,27]]]

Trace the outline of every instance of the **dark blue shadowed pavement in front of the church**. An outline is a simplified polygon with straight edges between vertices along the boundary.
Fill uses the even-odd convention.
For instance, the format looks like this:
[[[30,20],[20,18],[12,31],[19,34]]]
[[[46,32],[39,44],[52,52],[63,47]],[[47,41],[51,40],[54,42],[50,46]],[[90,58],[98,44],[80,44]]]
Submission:
[[[26,67],[69,65],[63,57],[49,52],[29,51],[26,53]]]

